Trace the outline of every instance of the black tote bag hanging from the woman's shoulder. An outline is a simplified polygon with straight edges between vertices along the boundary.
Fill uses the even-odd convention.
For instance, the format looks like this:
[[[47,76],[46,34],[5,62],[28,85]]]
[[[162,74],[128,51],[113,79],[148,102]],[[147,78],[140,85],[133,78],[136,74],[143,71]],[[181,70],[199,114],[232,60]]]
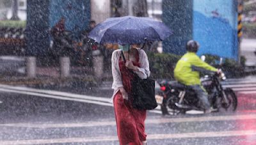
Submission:
[[[122,52],[122,57],[125,61],[124,53]],[[131,82],[132,89],[132,107],[136,109],[155,109],[157,107],[157,102],[155,98],[155,81],[154,79],[147,78],[141,79],[137,74],[134,74],[134,79]]]

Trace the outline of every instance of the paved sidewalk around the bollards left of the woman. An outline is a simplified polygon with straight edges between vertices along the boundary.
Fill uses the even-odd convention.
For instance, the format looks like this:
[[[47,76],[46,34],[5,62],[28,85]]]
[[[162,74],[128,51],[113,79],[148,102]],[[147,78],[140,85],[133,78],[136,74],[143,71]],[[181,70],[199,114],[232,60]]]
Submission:
[[[13,86],[31,86],[36,88],[97,88],[102,81],[111,81],[111,72],[105,72],[102,79],[93,75],[92,68],[70,68],[70,76],[61,77],[60,67],[36,67],[36,77],[28,78],[26,72],[20,74],[0,76],[0,84]]]

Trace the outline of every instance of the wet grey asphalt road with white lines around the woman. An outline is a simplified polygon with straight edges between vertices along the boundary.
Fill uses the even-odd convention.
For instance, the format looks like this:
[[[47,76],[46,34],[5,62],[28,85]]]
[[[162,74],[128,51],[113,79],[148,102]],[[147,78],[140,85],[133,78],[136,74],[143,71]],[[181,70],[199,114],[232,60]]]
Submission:
[[[234,113],[162,116],[159,109],[148,111],[148,144],[256,144],[254,85],[238,89]],[[113,107],[104,102],[112,90],[76,88],[63,93],[70,91],[0,86],[0,91],[0,144],[118,144]],[[76,92],[84,95],[73,96]],[[63,100],[67,95],[73,100]],[[88,99],[77,99],[84,96]]]

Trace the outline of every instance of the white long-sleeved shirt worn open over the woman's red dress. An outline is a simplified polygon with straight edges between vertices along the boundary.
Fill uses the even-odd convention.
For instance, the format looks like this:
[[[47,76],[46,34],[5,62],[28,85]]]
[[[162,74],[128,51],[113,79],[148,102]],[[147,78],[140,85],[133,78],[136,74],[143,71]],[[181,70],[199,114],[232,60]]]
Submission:
[[[148,57],[144,50],[138,50],[139,52],[139,63],[138,71],[134,71],[141,79],[146,79],[150,76]],[[113,76],[113,85],[114,89],[113,96],[111,97],[111,102],[115,94],[119,91],[119,88],[123,86],[122,75],[119,69],[119,58],[121,55],[121,50],[115,50],[112,53],[111,57],[111,66],[112,66],[112,76]]]

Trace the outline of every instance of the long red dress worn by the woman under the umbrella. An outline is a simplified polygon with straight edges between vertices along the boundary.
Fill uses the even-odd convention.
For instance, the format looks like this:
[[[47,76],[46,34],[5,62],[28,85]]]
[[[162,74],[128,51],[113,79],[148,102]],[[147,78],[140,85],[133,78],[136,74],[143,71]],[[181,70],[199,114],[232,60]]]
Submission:
[[[136,59],[137,62],[133,62],[133,65],[139,67],[139,57]],[[125,67],[125,63],[122,59],[119,59],[119,67],[124,88],[129,94],[131,92],[131,80],[134,76],[128,68]],[[121,145],[140,145],[142,141],[146,141],[147,137],[145,134],[147,111],[132,108],[131,100],[131,96],[129,96],[129,100],[123,99],[120,91],[116,93],[114,97],[117,134]]]

